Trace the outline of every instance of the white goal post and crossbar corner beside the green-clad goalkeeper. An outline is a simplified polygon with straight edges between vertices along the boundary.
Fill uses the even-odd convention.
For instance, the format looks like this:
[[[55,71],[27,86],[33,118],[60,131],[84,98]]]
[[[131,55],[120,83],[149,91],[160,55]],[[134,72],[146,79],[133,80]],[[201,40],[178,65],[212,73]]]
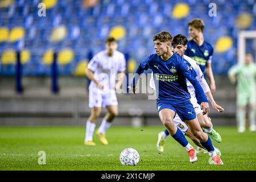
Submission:
[[[238,34],[238,63],[245,61],[246,39],[256,39],[256,31],[240,31]],[[255,50],[256,51],[256,50]]]

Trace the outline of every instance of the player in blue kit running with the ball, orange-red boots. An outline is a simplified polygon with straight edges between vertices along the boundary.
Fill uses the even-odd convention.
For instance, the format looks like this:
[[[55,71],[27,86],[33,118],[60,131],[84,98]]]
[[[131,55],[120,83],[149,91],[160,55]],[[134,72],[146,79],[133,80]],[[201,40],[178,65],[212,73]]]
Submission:
[[[191,64],[183,57],[171,51],[172,35],[169,32],[160,32],[153,38],[156,53],[143,60],[131,82],[130,89],[135,93],[139,75],[148,68],[152,69],[154,79],[159,81],[156,85],[156,109],[163,125],[171,136],[183,146],[189,154],[189,161],[196,162],[196,150],[189,144],[184,134],[174,125],[175,114],[179,114],[182,121],[187,123],[192,134],[209,152],[214,164],[223,164],[220,156],[214,151],[212,141],[201,129],[196,119],[195,110],[190,102],[190,94],[186,84],[186,78],[191,82],[197,92],[203,114],[209,113],[209,104],[201,85],[196,80],[196,72]]]

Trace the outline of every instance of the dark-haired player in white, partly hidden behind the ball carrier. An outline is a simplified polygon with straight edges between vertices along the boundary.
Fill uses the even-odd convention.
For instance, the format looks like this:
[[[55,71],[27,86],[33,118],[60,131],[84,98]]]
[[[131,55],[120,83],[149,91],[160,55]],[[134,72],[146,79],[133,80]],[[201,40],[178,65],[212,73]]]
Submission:
[[[191,59],[188,56],[184,55],[185,49],[187,48],[187,38],[184,35],[176,35],[174,37],[174,40],[172,41],[172,47],[173,47],[173,51],[175,53],[177,53],[178,55],[180,55],[181,57],[183,57],[185,60],[187,60],[193,67],[193,69],[195,69],[196,73],[197,73],[197,80],[200,82],[205,94],[207,95],[207,97],[209,98],[210,103],[212,104],[213,108],[217,111],[224,111],[224,109],[217,105],[216,102],[213,99],[212,93],[210,92],[210,88],[207,84],[207,81],[204,79],[204,75],[203,72],[201,71],[199,65],[196,63],[195,60]],[[155,84],[154,84],[154,78],[151,76],[151,80],[150,80],[150,86],[152,89],[155,90]],[[193,85],[191,84],[191,82],[189,82],[187,80],[187,86],[188,86],[188,92],[191,94],[191,103],[195,109],[196,115],[197,115],[197,119],[199,120],[200,126],[201,124],[205,123],[205,122],[211,122],[210,118],[207,115],[203,115],[203,111],[200,108],[200,105],[197,104],[197,100],[196,100],[196,96],[195,96],[195,89],[193,88]],[[193,136],[193,134],[191,133],[191,131],[189,131],[188,126],[181,121],[181,119],[179,118],[179,115],[175,115],[174,118],[174,124],[175,126],[177,126],[181,131],[183,131],[183,133],[185,135],[187,135],[189,138],[191,138],[191,140],[199,147],[202,147],[199,140],[196,139],[195,136]],[[166,142],[166,138],[168,137],[169,133],[168,130],[165,130],[164,132],[160,132],[158,134],[158,142],[156,144],[156,147],[158,148],[158,150],[160,152],[164,151],[164,143]],[[216,148],[217,152],[219,155],[221,155],[220,151]]]

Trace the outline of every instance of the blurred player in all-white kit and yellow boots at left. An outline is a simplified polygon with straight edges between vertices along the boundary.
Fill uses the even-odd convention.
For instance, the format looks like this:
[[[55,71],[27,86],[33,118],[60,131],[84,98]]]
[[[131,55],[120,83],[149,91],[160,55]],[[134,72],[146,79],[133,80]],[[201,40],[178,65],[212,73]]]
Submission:
[[[95,146],[93,133],[101,107],[106,107],[108,113],[102,119],[97,135],[102,144],[108,144],[105,133],[118,115],[118,102],[115,90],[118,90],[125,76],[125,55],[117,51],[118,43],[112,37],[105,40],[104,51],[98,52],[88,64],[86,76],[92,80],[89,85],[90,116],[86,122],[84,144]]]

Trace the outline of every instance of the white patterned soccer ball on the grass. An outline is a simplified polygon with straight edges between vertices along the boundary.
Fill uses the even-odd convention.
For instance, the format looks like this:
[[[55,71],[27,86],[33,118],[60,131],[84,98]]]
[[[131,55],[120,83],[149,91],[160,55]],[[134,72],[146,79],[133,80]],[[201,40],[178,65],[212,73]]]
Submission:
[[[125,148],[119,159],[123,166],[136,166],[139,162],[139,153],[134,148]]]

